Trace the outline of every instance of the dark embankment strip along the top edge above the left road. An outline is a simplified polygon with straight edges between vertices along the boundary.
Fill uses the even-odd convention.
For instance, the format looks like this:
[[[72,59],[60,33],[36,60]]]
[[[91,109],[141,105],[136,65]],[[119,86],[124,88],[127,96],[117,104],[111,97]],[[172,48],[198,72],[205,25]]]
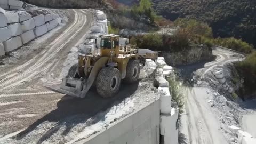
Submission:
[[[99,8],[103,7],[102,0],[25,0],[25,2],[41,7],[52,8]]]

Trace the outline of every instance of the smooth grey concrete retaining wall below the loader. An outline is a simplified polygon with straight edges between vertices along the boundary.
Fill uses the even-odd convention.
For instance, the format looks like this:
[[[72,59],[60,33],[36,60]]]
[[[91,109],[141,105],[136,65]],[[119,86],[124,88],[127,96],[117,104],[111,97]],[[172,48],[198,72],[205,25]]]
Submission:
[[[91,138],[79,141],[84,144],[156,144],[160,141],[160,100],[150,103],[148,106],[126,116]]]

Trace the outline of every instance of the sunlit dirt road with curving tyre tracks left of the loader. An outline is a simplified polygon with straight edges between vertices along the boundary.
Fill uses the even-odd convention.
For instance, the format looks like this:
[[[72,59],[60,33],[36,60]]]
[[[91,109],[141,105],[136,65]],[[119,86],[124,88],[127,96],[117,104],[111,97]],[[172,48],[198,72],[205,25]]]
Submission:
[[[44,41],[39,38],[32,42],[34,51],[0,67],[0,138],[50,113],[63,97],[43,84],[61,81],[63,63],[71,47],[89,30],[93,14],[87,10],[61,11],[68,14],[65,26]]]

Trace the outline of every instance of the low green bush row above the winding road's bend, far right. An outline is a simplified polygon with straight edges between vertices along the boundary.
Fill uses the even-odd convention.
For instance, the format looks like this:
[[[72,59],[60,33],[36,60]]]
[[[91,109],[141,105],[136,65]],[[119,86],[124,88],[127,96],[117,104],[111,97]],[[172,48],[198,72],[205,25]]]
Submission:
[[[227,47],[236,51],[251,53],[253,51],[253,46],[243,42],[242,39],[235,39],[234,37],[230,38],[217,38],[213,41],[214,44]]]

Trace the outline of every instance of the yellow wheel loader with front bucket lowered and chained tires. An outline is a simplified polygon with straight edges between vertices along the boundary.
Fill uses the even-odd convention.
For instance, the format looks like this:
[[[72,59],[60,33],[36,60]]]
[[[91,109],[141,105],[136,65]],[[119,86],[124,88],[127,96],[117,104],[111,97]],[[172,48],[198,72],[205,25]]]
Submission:
[[[103,98],[114,97],[118,93],[121,79],[127,83],[138,81],[140,75],[139,58],[156,59],[158,54],[150,51],[138,53],[136,45],[119,46],[118,35],[100,36],[100,49],[87,50],[88,54],[78,55],[78,63],[71,66],[63,78],[60,89],[55,92],[84,98],[95,84]]]

